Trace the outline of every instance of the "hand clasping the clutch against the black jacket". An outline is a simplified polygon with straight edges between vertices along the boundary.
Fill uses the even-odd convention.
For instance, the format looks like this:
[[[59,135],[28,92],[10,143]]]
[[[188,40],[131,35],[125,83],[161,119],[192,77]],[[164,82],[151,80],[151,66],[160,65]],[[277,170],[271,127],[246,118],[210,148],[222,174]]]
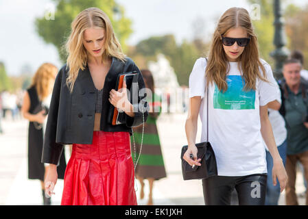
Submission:
[[[126,81],[123,81],[123,88],[119,91],[112,89],[109,92],[109,102],[123,112],[130,112],[130,106],[132,105],[128,101],[128,94],[126,89]]]

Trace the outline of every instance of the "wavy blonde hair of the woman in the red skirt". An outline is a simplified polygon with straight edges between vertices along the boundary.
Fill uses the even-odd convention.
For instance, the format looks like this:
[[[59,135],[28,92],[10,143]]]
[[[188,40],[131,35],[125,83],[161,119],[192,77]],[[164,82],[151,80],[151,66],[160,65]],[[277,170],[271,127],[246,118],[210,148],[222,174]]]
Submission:
[[[84,70],[88,57],[83,45],[84,31],[90,27],[100,27],[105,30],[103,61],[109,57],[117,57],[125,61],[126,55],[123,54],[121,44],[115,37],[112,25],[108,16],[99,8],[87,8],[76,16],[71,23],[71,34],[66,43],[67,68],[69,68],[69,77],[67,77],[67,86],[73,91],[73,86],[78,77],[79,70]]]

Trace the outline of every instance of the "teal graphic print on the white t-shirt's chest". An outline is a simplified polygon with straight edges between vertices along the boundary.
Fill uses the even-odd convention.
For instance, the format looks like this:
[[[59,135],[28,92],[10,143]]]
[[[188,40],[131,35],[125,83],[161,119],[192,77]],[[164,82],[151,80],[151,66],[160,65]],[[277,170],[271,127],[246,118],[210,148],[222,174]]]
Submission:
[[[215,85],[214,109],[254,110],[255,90],[244,90],[245,79],[241,75],[227,75],[226,82],[226,92],[221,92]]]

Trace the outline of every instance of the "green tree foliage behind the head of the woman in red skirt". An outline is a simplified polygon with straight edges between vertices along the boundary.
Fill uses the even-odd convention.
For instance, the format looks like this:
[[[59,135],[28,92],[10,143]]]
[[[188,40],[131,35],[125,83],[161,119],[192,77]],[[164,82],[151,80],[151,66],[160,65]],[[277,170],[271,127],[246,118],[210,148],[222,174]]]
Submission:
[[[67,60],[63,46],[70,34],[71,22],[82,10],[91,7],[100,8],[108,15],[123,50],[126,50],[126,40],[132,33],[131,21],[125,17],[123,7],[115,0],[54,0],[54,3],[56,4],[54,20],[42,16],[36,18],[35,26],[38,35],[58,49],[62,62]]]

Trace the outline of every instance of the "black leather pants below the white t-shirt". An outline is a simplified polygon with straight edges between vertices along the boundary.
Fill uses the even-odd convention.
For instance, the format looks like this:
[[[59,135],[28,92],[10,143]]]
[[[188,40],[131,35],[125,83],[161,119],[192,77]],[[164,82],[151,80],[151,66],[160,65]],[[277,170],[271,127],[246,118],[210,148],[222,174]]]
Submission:
[[[237,190],[239,205],[264,205],[266,174],[243,177],[216,176],[202,179],[205,205],[230,205],[231,194]]]

